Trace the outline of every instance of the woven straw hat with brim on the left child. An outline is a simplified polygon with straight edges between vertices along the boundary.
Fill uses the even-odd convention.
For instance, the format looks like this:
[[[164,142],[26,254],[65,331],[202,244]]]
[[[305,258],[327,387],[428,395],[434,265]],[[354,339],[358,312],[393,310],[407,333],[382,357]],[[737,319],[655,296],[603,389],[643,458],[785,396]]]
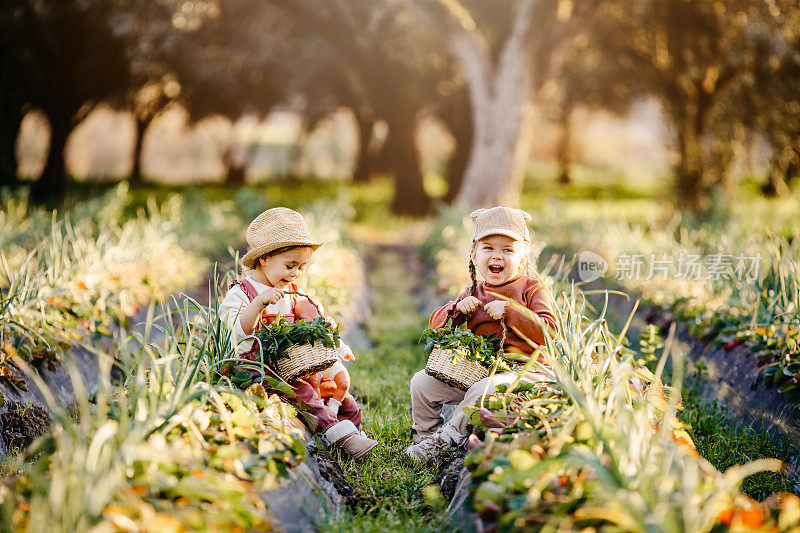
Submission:
[[[259,257],[278,248],[309,246],[316,250],[322,246],[311,240],[303,216],[287,207],[274,207],[258,215],[247,227],[245,238],[250,249],[242,257],[242,264],[247,268],[253,268]]]

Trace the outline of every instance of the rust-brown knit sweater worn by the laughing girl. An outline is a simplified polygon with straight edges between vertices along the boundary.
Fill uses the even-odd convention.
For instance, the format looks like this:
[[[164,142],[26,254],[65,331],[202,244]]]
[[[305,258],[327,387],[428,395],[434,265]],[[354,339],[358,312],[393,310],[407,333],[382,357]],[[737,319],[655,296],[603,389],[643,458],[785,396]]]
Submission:
[[[489,285],[484,280],[478,282],[475,297],[480,300],[482,304],[501,299],[492,293],[501,294],[524,305],[539,315],[542,322],[558,331],[558,325],[556,324],[556,318],[553,313],[553,304],[539,278],[519,276],[502,285]],[[451,315],[454,316],[453,323],[455,325],[463,324],[465,318],[461,313],[456,311],[455,308],[456,304],[467,296],[469,296],[469,287],[461,291],[461,294],[459,294],[455,300],[435,309],[433,313],[431,313],[430,326],[433,329],[443,327],[447,322],[447,318]],[[544,344],[544,332],[542,328],[520,311],[513,309],[510,304],[506,306],[506,312],[503,318],[508,328],[503,350],[521,351],[526,354],[533,353],[533,347],[523,340],[520,334],[537,344]],[[500,321],[490,317],[489,314],[484,311],[483,307],[478,307],[468,316],[467,327],[476,335],[483,335],[485,337],[493,336],[499,339],[503,334]]]

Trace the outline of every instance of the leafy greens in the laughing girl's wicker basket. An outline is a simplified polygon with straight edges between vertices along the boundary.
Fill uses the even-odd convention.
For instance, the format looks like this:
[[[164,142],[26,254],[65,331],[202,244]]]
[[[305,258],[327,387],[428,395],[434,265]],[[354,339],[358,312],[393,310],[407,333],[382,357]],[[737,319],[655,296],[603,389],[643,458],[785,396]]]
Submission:
[[[440,329],[428,328],[422,333],[420,342],[425,344],[425,353],[430,355],[435,346],[453,353],[450,360],[457,363],[460,358],[473,361],[479,365],[492,369],[497,358],[498,339],[475,335],[466,327],[445,326]],[[498,372],[511,370],[503,358],[497,366]]]

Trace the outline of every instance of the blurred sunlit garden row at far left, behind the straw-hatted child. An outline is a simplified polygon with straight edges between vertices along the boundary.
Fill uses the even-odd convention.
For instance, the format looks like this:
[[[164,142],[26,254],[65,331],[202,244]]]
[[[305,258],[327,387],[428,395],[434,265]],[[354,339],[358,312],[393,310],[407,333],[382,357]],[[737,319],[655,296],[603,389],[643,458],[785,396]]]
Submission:
[[[201,197],[176,195],[128,214],[124,185],[66,212],[12,199],[2,207],[0,384],[16,387],[26,384],[12,357],[53,369],[74,342],[109,335],[142,307],[197,284],[242,224],[232,206]]]

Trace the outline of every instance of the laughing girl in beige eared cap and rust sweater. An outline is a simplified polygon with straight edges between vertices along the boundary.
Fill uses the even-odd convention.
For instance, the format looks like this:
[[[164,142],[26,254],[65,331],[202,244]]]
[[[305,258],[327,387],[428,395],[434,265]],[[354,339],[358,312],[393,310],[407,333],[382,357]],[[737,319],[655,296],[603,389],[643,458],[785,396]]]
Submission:
[[[466,323],[477,335],[502,338],[503,350],[530,355],[533,346],[523,337],[544,344],[545,332],[534,320],[497,297],[501,294],[536,313],[544,324],[557,329],[552,303],[538,276],[527,275],[531,251],[527,222],[531,216],[510,207],[478,209],[470,215],[475,220],[472,232],[469,272],[471,286],[455,300],[433,311],[430,326],[439,329],[448,318],[454,325]],[[480,274],[481,281],[478,281]],[[414,422],[412,444],[406,455],[415,461],[425,461],[447,446],[461,445],[467,438],[468,419],[463,410],[473,406],[487,390],[492,392],[501,384],[510,384],[514,372],[502,372],[472,385],[466,392],[451,387],[419,371],[411,379],[411,419]],[[449,422],[443,424],[444,404],[458,404]]]

